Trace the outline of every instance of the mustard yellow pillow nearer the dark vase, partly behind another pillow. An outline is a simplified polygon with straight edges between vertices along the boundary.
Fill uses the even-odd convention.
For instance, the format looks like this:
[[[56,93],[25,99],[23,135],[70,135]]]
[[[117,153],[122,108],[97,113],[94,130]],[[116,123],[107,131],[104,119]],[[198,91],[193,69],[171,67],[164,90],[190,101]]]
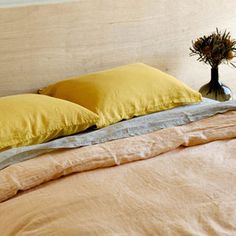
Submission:
[[[142,63],[60,81],[39,92],[95,112],[97,127],[202,99],[174,77]]]

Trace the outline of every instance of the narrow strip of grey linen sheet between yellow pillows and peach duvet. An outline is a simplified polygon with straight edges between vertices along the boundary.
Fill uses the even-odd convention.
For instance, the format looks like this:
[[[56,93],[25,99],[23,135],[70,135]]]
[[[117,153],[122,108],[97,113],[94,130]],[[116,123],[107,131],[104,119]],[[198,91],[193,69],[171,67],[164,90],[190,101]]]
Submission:
[[[76,148],[184,125],[218,113],[236,110],[236,100],[216,102],[204,99],[195,105],[177,107],[122,121],[108,127],[63,137],[47,143],[12,148],[0,153],[0,170],[17,162],[62,148]]]

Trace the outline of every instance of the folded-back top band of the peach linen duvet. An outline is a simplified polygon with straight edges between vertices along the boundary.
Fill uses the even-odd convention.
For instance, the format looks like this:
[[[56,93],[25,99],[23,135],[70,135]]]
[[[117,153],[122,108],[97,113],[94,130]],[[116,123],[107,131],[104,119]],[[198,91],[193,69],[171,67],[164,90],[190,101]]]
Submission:
[[[180,146],[236,137],[236,111],[187,125],[110,142],[57,150],[0,171],[0,202],[47,181],[75,172],[157,157]]]

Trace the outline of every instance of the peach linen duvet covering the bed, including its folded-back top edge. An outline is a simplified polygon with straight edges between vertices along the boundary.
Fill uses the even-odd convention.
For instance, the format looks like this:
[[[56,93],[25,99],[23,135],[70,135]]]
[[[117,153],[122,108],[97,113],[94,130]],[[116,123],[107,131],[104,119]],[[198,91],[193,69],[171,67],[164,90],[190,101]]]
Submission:
[[[228,111],[12,164],[0,235],[236,235],[235,138]]]

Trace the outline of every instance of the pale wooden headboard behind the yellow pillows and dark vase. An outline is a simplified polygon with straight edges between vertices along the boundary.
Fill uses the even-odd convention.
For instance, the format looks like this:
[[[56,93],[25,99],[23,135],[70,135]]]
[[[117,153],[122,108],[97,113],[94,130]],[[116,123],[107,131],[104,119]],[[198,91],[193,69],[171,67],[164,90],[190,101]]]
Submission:
[[[220,15],[223,5],[226,14]],[[215,27],[236,33],[235,9],[234,0],[78,0],[0,8],[0,96],[136,61],[198,88],[210,69],[189,57],[191,40]],[[224,82],[236,88],[234,76],[224,69]]]

